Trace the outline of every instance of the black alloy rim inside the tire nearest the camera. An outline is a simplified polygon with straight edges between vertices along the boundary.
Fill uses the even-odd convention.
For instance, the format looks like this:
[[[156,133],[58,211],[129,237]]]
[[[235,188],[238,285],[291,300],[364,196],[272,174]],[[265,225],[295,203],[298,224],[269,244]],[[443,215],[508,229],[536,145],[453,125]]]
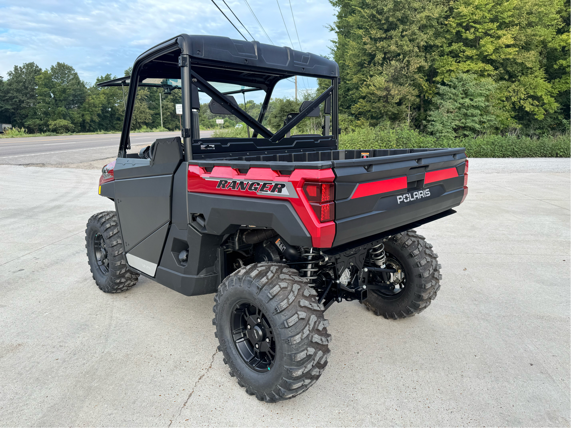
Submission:
[[[242,301],[234,305],[230,328],[236,350],[248,367],[265,373],[274,366],[276,342],[270,321],[258,306]]]

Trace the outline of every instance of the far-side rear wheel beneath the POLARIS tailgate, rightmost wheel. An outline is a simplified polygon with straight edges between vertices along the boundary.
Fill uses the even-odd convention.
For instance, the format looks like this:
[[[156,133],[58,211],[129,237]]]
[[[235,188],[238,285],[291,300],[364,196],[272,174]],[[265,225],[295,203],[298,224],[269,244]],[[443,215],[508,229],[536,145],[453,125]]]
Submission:
[[[383,244],[386,267],[395,269],[396,273],[389,281],[371,281],[371,285],[377,287],[369,286],[367,300],[361,303],[376,315],[393,320],[422,312],[440,289],[442,275],[438,255],[424,236],[412,230],[391,236]]]

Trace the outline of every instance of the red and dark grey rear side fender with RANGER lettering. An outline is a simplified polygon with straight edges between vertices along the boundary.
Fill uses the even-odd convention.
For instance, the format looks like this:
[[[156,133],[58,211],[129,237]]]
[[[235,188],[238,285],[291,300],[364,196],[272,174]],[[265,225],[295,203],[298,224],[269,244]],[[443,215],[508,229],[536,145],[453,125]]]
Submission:
[[[334,179],[331,168],[295,169],[291,175],[286,175],[271,168],[250,168],[240,172],[231,167],[214,167],[207,171],[198,165],[189,165],[188,209],[191,213],[203,213],[192,207],[214,209],[207,219],[203,213],[204,227],[206,231],[210,229],[210,233],[231,233],[231,225],[265,226],[274,228],[291,245],[329,248],[335,237],[335,222],[320,223],[303,193],[303,184],[305,181],[333,183]],[[211,201],[216,198],[204,195],[200,200],[206,205],[201,205],[193,193],[232,198],[222,198],[214,203]],[[236,209],[235,204],[244,205],[244,209]],[[295,227],[295,223],[301,223],[301,227]],[[303,233],[301,229],[304,229]]]

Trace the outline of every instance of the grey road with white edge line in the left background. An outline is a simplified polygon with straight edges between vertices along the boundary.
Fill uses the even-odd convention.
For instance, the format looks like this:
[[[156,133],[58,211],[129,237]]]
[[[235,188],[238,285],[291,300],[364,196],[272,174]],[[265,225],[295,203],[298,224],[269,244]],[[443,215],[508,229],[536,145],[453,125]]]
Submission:
[[[206,138],[212,131],[200,131]],[[157,138],[179,136],[180,132],[137,132],[131,134],[131,151],[153,143]],[[69,135],[0,139],[0,164],[76,165],[116,158],[120,134]]]

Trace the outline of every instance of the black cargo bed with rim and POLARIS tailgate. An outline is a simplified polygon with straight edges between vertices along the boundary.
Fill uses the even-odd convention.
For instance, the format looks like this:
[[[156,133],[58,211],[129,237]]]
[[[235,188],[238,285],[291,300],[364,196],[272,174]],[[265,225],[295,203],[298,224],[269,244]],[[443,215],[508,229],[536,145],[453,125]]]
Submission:
[[[468,192],[464,148],[313,149],[195,159],[188,164],[206,172],[230,167],[242,174],[250,168],[270,168],[284,181],[296,169],[331,169],[335,174],[335,237],[331,247],[447,211],[459,205]]]

